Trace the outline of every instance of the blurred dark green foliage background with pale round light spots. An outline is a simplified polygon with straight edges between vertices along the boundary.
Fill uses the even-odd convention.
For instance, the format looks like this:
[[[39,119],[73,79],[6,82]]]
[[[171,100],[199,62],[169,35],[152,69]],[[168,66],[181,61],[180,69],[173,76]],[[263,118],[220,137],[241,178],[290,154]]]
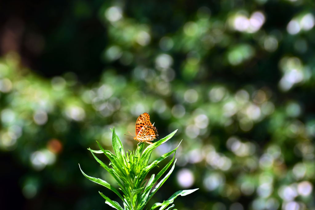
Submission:
[[[55,17],[58,7],[43,6],[43,20]],[[24,23],[26,51],[10,48],[3,26],[5,207],[104,209],[96,189],[105,189],[85,180],[77,163],[114,185],[86,148],[97,140],[110,150],[109,128],[123,137],[148,112],[160,137],[179,129],[152,159],[183,139],[176,174],[156,201],[200,188],[176,207],[315,208],[313,1],[72,1],[65,8],[54,30],[35,15],[37,27]],[[96,16],[97,24],[88,21]],[[38,69],[26,67],[31,55]],[[137,144],[122,142],[127,150]]]

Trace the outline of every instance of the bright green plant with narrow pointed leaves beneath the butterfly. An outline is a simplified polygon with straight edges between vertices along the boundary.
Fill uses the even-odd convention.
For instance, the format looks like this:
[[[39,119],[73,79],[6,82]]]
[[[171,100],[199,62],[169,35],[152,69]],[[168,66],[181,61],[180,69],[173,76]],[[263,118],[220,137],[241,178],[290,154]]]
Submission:
[[[149,164],[151,153],[155,148],[157,148],[157,146],[163,144],[164,142],[172,138],[172,136],[176,133],[177,130],[174,131],[173,133],[170,133],[163,139],[158,140],[152,145],[148,145],[145,149],[144,143],[141,143],[135,151],[130,151],[129,153],[124,152],[123,145],[119,137],[115,133],[115,128],[112,131],[113,131],[112,146],[115,155],[112,154],[112,152],[110,152],[109,150],[104,150],[103,147],[98,142],[97,144],[99,145],[100,150],[91,149],[89,150],[91,151],[95,160],[99,162],[100,165],[114,177],[114,179],[117,181],[117,184],[119,185],[119,190],[121,190],[122,194],[106,181],[86,175],[82,171],[81,167],[80,170],[87,179],[112,190],[123,201],[124,207],[121,207],[118,202],[112,201],[110,198],[99,192],[100,195],[106,200],[105,203],[107,203],[111,207],[116,208],[118,210],[144,209],[148,201],[152,198],[152,196],[157,192],[157,190],[162,186],[162,184],[169,178],[170,174],[173,172],[176,162],[176,159],[174,161],[175,152],[179,145],[174,150],[165,153],[164,155],[160,156],[159,158],[157,158],[156,160]],[[94,153],[104,153],[110,160],[109,166],[111,166],[112,168],[108,167],[105,163],[100,161],[100,159],[98,159]],[[156,176],[155,174],[152,174],[151,178],[147,182],[146,177],[150,170],[153,167],[157,166],[159,162],[163,161],[165,158],[172,155],[173,153],[174,156],[172,160],[169,161],[169,163],[166,164],[166,166],[163,167],[163,169],[159,173],[157,173]],[[159,180],[171,165],[172,167],[169,170],[169,172],[161,180]],[[163,210],[168,207],[167,209],[170,210],[171,208],[174,207],[174,204],[172,203],[177,196],[186,196],[196,190],[198,189],[177,191],[168,200],[163,201],[162,203],[155,203],[150,209],[160,207],[159,209]]]

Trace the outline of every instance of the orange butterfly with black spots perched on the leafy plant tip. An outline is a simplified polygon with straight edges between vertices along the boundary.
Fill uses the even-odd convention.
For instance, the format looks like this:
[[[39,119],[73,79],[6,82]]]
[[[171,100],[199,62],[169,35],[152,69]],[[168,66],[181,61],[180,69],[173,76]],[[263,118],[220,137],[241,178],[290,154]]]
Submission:
[[[154,127],[154,123],[150,122],[150,115],[146,112],[141,114],[136,121],[136,136],[134,139],[140,143],[152,144],[151,141],[157,139],[157,137],[157,128]]]

